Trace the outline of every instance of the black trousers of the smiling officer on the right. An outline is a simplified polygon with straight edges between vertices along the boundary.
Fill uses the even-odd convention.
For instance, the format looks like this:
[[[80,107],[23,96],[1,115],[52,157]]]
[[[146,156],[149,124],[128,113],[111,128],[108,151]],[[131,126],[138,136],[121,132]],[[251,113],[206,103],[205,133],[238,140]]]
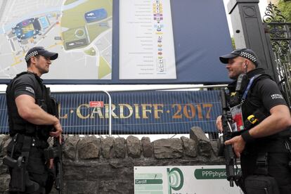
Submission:
[[[285,150],[282,152],[268,152],[267,161],[268,174],[276,179],[280,193],[291,193],[290,153]],[[243,154],[240,162],[244,181],[247,176],[254,174],[257,170],[257,153]]]

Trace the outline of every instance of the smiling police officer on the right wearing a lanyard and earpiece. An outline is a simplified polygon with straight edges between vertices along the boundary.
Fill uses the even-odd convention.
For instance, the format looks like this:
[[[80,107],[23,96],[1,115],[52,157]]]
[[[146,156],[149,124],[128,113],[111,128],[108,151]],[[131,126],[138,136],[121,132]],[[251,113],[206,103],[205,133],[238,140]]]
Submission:
[[[280,89],[258,67],[257,55],[250,49],[237,49],[219,59],[227,64],[228,77],[235,80],[228,85],[233,138],[225,145],[232,145],[240,157],[243,174],[238,185],[245,193],[261,189],[291,193],[291,117]],[[221,116],[216,127],[223,130]]]

